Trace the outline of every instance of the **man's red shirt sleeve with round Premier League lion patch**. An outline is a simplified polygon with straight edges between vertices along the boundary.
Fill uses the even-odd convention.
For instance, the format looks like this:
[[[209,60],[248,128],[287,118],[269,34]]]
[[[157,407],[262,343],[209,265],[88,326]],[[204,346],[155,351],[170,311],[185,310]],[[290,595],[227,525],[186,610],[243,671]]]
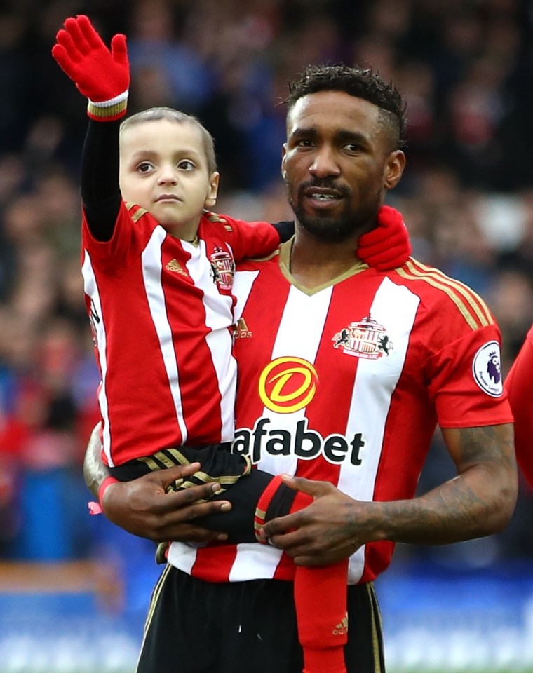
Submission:
[[[442,428],[511,423],[501,379],[497,325],[468,329],[426,362],[426,377]]]

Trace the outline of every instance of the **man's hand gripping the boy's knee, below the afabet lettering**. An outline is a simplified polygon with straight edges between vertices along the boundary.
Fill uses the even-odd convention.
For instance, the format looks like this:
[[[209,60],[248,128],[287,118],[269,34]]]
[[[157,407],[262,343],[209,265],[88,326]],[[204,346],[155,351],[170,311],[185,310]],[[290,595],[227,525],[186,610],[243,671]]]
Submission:
[[[367,541],[367,537],[354,536],[353,508],[363,509],[373,503],[358,503],[329,482],[304,477],[283,477],[283,482],[315,501],[299,512],[267,522],[260,535],[287,552],[297,566],[336,563]]]

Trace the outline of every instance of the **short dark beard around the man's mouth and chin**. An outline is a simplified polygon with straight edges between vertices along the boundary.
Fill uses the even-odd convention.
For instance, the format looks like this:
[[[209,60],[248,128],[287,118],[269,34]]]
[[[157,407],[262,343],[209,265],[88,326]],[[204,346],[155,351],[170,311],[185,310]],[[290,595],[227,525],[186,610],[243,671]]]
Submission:
[[[330,184],[325,184],[326,181],[317,180],[312,183],[300,185],[297,195],[297,200],[292,198],[292,189],[290,184],[287,185],[288,200],[295,218],[299,225],[310,233],[314,238],[323,240],[324,243],[342,243],[347,240],[354,233],[365,233],[372,229],[372,224],[376,222],[377,211],[379,210],[379,200],[376,198],[374,203],[366,203],[358,210],[351,208],[351,193],[346,189],[342,191],[338,187],[335,190],[344,197],[344,206],[342,211],[337,214],[325,212],[323,215],[309,215],[302,207],[302,194],[304,189],[309,186],[332,187]],[[369,226],[370,225],[370,226]]]

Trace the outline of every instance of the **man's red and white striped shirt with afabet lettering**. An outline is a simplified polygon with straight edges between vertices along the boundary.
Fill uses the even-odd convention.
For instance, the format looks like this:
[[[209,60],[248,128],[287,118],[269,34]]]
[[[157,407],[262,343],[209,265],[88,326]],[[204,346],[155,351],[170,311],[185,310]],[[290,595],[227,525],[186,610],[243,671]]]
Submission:
[[[309,291],[289,272],[290,243],[239,266],[234,451],[258,468],[328,480],[360,501],[412,498],[431,437],[512,422],[499,371],[499,328],[482,299],[414,259],[365,264]],[[393,543],[350,559],[349,583],[374,579]],[[292,578],[269,545],[193,548],[168,560],[210,581]]]

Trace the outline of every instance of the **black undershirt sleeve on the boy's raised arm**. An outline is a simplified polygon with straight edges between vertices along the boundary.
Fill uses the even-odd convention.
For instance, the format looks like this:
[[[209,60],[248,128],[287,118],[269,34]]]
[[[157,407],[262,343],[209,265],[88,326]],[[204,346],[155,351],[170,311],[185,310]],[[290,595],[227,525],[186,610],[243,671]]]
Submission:
[[[81,151],[81,200],[90,233],[96,240],[113,236],[119,214],[120,120],[89,120]]]

